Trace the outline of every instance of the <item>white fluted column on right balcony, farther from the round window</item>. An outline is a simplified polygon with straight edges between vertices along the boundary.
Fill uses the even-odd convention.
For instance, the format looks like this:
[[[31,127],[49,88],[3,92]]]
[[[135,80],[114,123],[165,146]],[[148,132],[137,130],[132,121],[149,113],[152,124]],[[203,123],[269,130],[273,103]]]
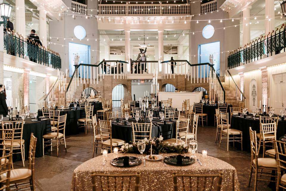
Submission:
[[[265,35],[274,30],[274,1],[265,0]],[[269,21],[270,19],[270,21]]]

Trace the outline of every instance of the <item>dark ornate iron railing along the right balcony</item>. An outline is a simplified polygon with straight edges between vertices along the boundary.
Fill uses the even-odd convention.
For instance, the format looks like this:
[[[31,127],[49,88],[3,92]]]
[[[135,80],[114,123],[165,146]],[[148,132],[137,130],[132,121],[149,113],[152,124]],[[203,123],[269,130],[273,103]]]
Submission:
[[[286,26],[283,24],[280,29],[273,30],[267,36],[261,36],[255,41],[246,44],[243,48],[231,52],[227,58],[228,67],[234,68],[241,63],[247,64],[260,60],[265,56],[272,56],[285,52],[286,48]]]

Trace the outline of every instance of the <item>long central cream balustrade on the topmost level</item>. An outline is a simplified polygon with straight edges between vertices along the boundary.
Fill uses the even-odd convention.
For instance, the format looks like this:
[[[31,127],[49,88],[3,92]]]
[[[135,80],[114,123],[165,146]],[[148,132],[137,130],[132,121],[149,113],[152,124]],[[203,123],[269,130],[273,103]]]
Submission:
[[[190,15],[189,4],[100,4],[98,15]]]

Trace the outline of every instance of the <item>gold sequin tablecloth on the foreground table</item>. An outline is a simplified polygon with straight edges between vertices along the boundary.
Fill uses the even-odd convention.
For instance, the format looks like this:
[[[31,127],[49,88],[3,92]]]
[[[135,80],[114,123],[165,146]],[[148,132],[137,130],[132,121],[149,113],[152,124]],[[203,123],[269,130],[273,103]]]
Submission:
[[[177,153],[163,154],[164,157],[170,155],[177,155]],[[187,153],[186,156],[190,154]],[[230,164],[211,156],[202,157],[202,154],[196,154],[202,166],[196,161],[194,164],[188,166],[172,166],[164,164],[161,161],[148,161],[146,160],[146,167],[139,164],[134,167],[114,167],[110,164],[111,159],[121,156],[135,156],[136,154],[123,154],[123,153],[110,153],[107,156],[107,163],[102,166],[103,156],[92,158],[80,166],[73,172],[71,191],[92,191],[91,172],[104,173],[104,174],[121,174],[121,173],[141,173],[140,188],[139,190],[164,190],[173,191],[173,178],[172,173],[175,171],[180,174],[218,174],[223,172],[222,185],[223,191],[238,191],[239,183],[237,179],[236,169]]]

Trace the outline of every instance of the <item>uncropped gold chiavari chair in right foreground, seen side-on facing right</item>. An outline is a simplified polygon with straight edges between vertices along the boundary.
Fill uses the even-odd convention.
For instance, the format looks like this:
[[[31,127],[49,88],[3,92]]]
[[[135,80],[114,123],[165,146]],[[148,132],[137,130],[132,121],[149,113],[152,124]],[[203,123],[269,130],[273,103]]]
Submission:
[[[257,181],[271,181],[276,182],[276,180],[271,180],[269,177],[277,177],[272,174],[272,170],[277,171],[277,162],[274,158],[258,158],[258,150],[257,150],[257,139],[256,139],[256,131],[251,130],[249,127],[249,135],[250,135],[250,152],[251,152],[251,167],[250,167],[250,175],[248,187],[250,187],[252,173],[255,173],[254,178],[254,191],[257,189]],[[262,170],[269,170],[270,172],[262,172]],[[276,173],[275,173],[276,174]],[[258,179],[257,176],[266,176],[267,179]]]

